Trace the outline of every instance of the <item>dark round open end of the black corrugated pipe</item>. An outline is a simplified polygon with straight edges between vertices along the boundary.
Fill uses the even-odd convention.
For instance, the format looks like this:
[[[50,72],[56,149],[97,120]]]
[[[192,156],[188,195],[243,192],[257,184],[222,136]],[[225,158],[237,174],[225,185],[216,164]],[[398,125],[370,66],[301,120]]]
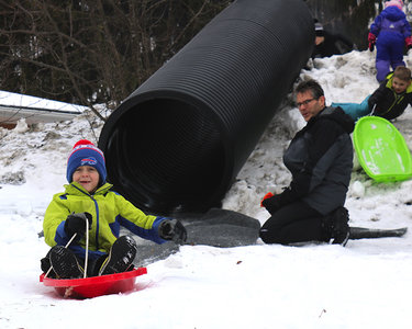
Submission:
[[[110,182],[147,209],[202,208],[202,200],[221,192],[224,181],[221,135],[210,115],[196,106],[169,99],[142,102],[121,116],[109,139]]]

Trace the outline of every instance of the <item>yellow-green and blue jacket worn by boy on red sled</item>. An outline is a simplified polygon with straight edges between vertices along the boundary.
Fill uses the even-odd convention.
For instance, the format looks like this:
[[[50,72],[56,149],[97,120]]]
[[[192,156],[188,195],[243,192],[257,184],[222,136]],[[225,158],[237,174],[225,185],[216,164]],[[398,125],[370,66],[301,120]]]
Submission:
[[[71,237],[64,229],[66,218],[71,213],[88,212],[92,215],[89,230],[89,257],[96,259],[109,252],[110,247],[123,226],[135,235],[155,241],[166,242],[158,235],[159,224],[165,217],[145,215],[122,195],[110,191],[112,184],[105,183],[90,195],[79,183],[65,185],[64,193],[57,193],[48,205],[44,222],[44,237],[47,245],[65,246]],[[85,258],[86,237],[70,243],[78,257]]]

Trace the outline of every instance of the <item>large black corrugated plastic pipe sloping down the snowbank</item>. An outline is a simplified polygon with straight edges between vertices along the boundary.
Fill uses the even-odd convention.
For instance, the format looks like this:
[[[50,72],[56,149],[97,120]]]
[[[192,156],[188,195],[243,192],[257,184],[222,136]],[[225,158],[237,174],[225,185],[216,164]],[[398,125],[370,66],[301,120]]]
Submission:
[[[313,43],[304,1],[233,2],[108,118],[109,181],[155,214],[219,206]]]

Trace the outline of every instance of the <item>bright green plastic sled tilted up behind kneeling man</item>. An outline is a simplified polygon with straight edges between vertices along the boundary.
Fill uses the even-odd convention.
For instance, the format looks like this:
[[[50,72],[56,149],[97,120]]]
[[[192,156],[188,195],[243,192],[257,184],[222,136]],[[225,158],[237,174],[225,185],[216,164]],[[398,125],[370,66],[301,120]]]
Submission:
[[[412,159],[399,131],[379,116],[364,116],[355,125],[355,151],[365,172],[377,182],[412,177]]]

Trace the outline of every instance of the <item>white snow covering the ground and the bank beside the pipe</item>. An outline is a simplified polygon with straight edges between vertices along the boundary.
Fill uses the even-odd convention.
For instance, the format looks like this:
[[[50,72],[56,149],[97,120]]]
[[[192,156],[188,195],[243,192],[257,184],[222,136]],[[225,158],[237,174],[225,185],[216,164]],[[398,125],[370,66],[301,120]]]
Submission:
[[[405,57],[412,67],[412,55]],[[372,92],[375,54],[316,59],[303,76],[324,87],[326,103],[360,102]],[[412,109],[394,125],[412,149]],[[412,234],[350,240],[346,248],[185,246],[152,263],[136,291],[86,300],[58,297],[38,282],[48,247],[42,219],[65,184],[75,141],[97,141],[101,124],[22,123],[0,128],[0,328],[410,328]],[[263,195],[289,183],[281,155],[304,125],[296,107],[281,109],[224,200],[224,207],[264,223]],[[91,129],[93,127],[93,131]],[[346,206],[352,226],[411,227],[412,181],[379,184],[355,166]]]

